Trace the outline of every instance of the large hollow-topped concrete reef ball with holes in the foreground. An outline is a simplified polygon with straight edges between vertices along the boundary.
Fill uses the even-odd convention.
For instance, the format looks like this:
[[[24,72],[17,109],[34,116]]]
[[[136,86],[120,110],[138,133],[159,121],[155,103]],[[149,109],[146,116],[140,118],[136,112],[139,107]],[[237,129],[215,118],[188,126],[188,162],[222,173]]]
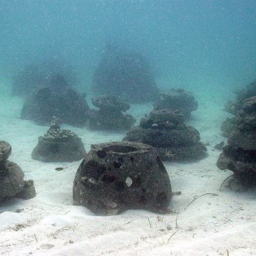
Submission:
[[[95,144],[75,175],[73,201],[97,215],[128,209],[168,213],[171,182],[151,146],[137,142]]]

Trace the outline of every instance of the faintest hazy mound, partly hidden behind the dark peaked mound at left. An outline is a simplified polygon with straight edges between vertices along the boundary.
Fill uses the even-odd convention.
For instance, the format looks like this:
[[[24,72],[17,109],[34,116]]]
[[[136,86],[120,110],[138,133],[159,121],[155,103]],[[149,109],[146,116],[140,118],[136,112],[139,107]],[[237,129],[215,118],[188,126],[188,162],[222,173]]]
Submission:
[[[26,97],[31,95],[38,87],[50,85],[53,74],[61,74],[70,85],[79,85],[78,72],[61,59],[48,59],[38,63],[29,63],[13,77],[11,95]]]

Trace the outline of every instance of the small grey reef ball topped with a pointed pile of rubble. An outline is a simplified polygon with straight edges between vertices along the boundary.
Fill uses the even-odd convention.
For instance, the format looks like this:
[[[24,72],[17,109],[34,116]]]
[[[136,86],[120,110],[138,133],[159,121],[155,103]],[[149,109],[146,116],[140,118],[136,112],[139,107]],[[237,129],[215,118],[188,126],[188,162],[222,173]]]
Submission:
[[[43,162],[78,161],[85,157],[82,140],[75,132],[60,129],[59,120],[53,117],[50,129],[39,137],[38,144],[32,151],[32,158]]]

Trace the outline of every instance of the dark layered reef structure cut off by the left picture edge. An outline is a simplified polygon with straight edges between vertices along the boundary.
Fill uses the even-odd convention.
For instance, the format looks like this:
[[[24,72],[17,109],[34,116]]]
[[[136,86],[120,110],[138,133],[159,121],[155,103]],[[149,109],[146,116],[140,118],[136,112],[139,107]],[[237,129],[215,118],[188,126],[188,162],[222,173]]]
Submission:
[[[11,145],[0,140],[0,205],[9,198],[30,199],[36,196],[33,181],[24,181],[21,168],[7,159],[11,155]]]

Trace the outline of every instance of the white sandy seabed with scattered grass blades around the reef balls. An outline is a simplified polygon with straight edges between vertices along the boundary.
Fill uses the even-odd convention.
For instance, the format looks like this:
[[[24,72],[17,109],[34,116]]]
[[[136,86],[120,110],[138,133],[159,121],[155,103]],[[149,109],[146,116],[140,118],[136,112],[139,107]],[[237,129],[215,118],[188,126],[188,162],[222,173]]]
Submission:
[[[72,205],[73,178],[80,161],[45,164],[31,159],[38,137],[48,127],[18,119],[22,101],[6,99],[6,95],[3,90],[0,139],[11,144],[9,159],[21,166],[26,179],[33,179],[37,195],[0,207],[0,255],[256,255],[255,191],[235,193],[225,186],[219,191],[223,180],[232,174],[215,165],[220,151],[213,146],[223,140],[220,123],[227,117],[221,105],[208,102],[193,113],[191,125],[199,130],[203,142],[210,143],[208,157],[193,164],[164,163],[173,191],[182,192],[171,200],[173,213],[127,210],[98,217]],[[139,119],[150,110],[151,106],[134,106],[131,112]],[[64,127],[77,132],[87,151],[90,144],[124,137]],[[59,166],[64,171],[55,171]],[[204,193],[218,196],[202,196],[186,208],[194,196]],[[22,209],[21,213],[15,213],[17,209]]]

